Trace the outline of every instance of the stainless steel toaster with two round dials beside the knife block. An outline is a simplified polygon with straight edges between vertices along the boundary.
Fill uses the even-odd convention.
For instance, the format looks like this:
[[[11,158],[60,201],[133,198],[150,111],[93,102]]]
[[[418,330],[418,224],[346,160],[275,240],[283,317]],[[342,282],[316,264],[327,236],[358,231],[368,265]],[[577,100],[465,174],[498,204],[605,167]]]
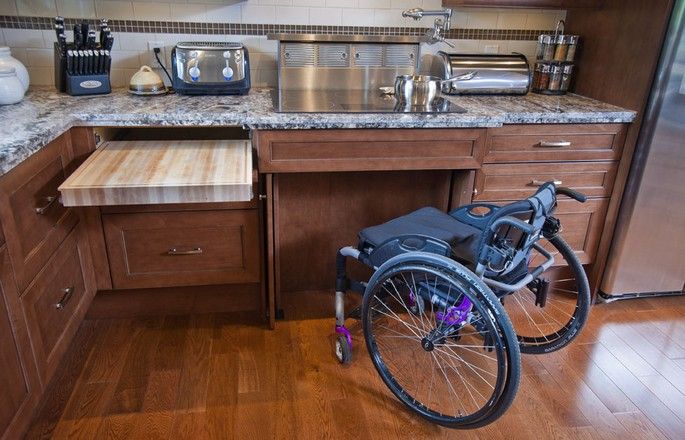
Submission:
[[[171,64],[177,93],[244,95],[250,90],[249,54],[240,43],[178,43]]]

